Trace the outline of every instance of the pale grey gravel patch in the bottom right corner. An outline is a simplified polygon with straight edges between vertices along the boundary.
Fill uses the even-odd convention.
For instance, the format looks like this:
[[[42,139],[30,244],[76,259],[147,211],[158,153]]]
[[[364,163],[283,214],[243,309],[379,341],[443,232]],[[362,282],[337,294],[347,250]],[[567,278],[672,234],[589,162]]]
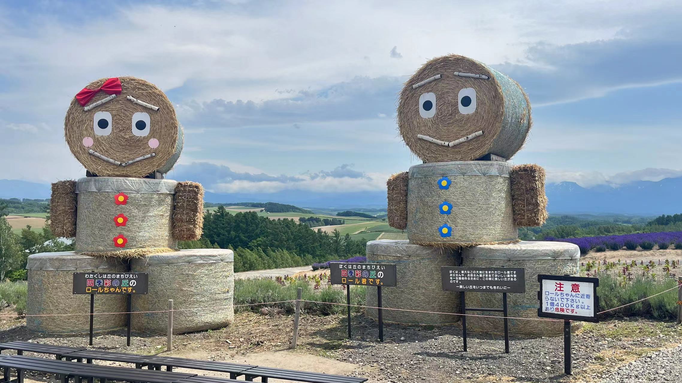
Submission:
[[[613,371],[602,383],[679,382],[682,377],[682,346],[642,356]]]

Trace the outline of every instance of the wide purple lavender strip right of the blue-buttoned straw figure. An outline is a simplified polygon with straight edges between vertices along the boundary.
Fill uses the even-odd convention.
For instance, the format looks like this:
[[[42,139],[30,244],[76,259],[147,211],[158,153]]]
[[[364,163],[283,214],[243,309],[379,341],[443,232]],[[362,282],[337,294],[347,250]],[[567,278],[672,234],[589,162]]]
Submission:
[[[560,241],[575,243],[580,247],[580,254],[588,251],[606,251],[606,249],[620,250],[625,247],[629,250],[658,249],[682,249],[682,232],[650,232],[639,234],[606,235],[606,236],[583,236],[580,238],[556,239],[552,236],[545,241]]]

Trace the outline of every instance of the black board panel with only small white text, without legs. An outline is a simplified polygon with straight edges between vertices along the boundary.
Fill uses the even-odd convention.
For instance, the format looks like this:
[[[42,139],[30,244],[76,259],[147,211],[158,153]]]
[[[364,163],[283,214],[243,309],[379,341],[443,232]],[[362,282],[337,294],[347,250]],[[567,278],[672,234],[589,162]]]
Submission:
[[[441,267],[443,290],[526,292],[525,270],[520,267]]]

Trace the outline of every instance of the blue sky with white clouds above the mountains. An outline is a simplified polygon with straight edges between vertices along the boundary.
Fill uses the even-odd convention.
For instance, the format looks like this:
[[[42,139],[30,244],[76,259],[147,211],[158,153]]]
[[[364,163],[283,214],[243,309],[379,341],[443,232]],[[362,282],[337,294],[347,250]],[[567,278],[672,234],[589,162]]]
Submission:
[[[396,130],[402,83],[458,53],[522,85],[517,164],[583,186],[682,175],[677,1],[5,1],[0,179],[84,170],[70,99],[137,76],[186,128],[176,179],[216,192],[379,191],[417,164]]]

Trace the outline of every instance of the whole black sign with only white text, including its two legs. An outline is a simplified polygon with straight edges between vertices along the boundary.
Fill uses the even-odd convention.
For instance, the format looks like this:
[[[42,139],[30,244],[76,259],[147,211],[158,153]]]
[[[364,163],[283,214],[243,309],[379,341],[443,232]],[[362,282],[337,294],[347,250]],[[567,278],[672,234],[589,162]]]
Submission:
[[[505,328],[505,353],[509,354],[507,292],[526,292],[525,269],[521,267],[441,267],[443,290],[460,292],[462,313],[501,312]],[[466,307],[466,292],[501,292],[502,308]],[[466,352],[466,315],[462,316],[462,343]]]

